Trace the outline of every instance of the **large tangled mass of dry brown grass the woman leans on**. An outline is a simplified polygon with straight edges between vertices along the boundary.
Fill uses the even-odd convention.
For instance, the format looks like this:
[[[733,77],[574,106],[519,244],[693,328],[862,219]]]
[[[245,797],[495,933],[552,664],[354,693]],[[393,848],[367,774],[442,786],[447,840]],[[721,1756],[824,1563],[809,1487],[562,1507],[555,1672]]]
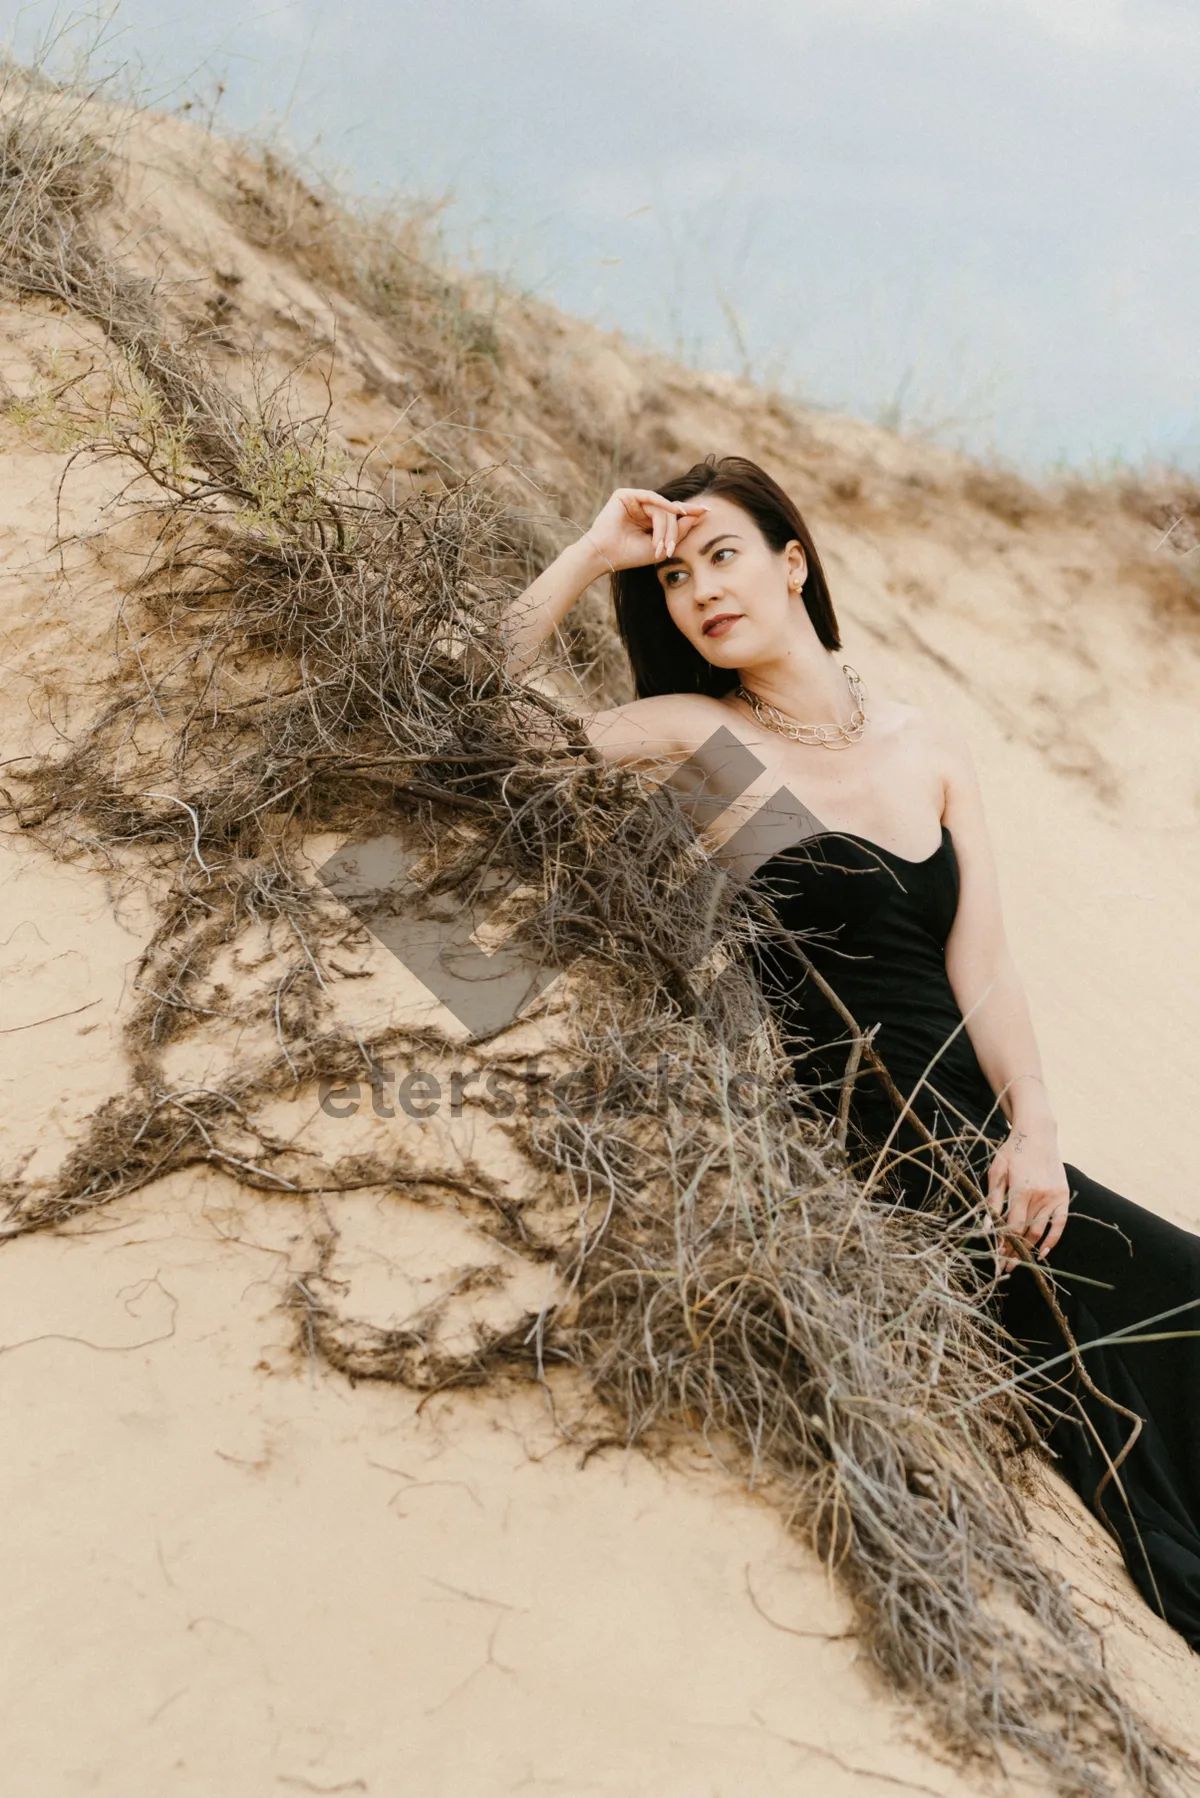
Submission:
[[[417,1178],[401,1160],[322,1165],[263,1124],[275,1095],[412,1046],[331,1025],[347,924],[302,870],[311,831],[403,829],[437,850],[428,903],[529,890],[524,942],[572,967],[572,1061],[597,1097],[522,1120],[538,1206],[473,1178],[497,1237],[552,1259],[569,1296],[439,1357],[434,1320],[338,1316],[318,1268],[291,1295],[302,1340],[354,1377],[426,1388],[572,1363],[626,1440],[702,1429],[837,1566],[874,1663],[964,1760],[1022,1755],[1088,1798],[1171,1791],[1173,1753],[1031,1550],[1015,1478],[1029,1420],[997,1390],[1013,1359],[979,1302],[972,1217],[864,1196],[747,971],[768,915],[698,865],[669,793],[604,766],[504,676],[497,620],[525,543],[489,484],[392,503],[340,478],[322,421],[230,397],[101,248],[104,155],[45,95],[9,92],[4,117],[7,275],[99,320],[124,358],[97,453],[140,475],[157,525],[106,708],[11,782],[11,809],[61,854],[169,876],[130,1088],[54,1179],[7,1181],[7,1233],[189,1163],[281,1194]],[[164,1050],[210,1027],[214,958],[255,924],[270,980],[223,1009],[273,1048],[219,1090],[180,1090]],[[662,1054],[693,1082],[685,1108],[646,1104]],[[765,1115],[730,1102],[734,1072],[765,1081]]]

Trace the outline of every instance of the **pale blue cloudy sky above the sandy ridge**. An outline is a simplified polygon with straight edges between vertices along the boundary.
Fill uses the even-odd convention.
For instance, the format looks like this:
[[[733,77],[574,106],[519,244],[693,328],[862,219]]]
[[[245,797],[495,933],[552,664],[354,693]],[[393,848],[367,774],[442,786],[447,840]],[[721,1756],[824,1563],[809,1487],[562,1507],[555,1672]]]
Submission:
[[[70,14],[0,0],[27,49]],[[110,61],[709,367],[1200,464],[1196,0],[126,0]]]

